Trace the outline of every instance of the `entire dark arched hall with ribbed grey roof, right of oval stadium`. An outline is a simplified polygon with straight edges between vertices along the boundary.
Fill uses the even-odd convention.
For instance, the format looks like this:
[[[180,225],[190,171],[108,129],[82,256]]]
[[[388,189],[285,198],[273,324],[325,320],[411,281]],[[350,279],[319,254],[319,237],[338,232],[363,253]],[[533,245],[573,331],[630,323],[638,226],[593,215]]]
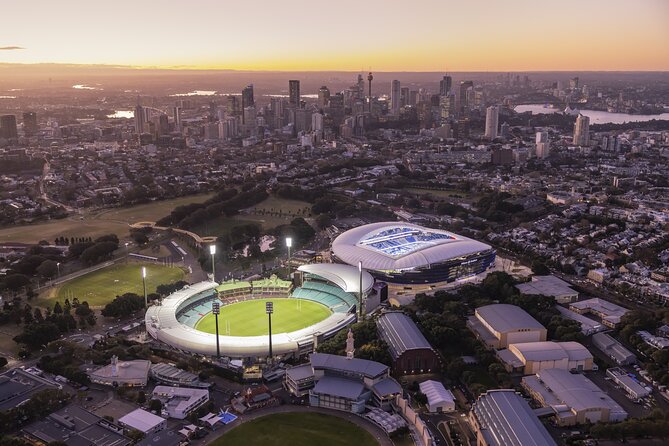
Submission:
[[[395,375],[431,373],[441,368],[439,354],[406,314],[384,313],[376,326],[379,336],[388,344]]]

